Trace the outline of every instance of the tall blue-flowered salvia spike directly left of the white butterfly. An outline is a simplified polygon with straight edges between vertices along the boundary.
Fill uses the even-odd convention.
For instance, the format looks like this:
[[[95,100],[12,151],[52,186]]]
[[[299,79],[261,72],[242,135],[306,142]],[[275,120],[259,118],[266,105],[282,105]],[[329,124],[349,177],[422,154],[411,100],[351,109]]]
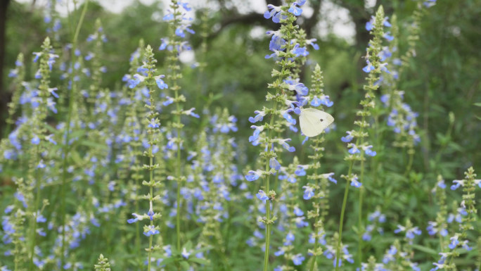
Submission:
[[[249,141],[254,146],[260,146],[263,151],[260,153],[264,169],[250,170],[245,179],[252,182],[262,177],[264,179],[263,189],[259,189],[257,198],[265,203],[265,216],[259,218],[259,222],[265,225],[265,246],[264,246],[264,271],[269,269],[269,245],[271,238],[271,227],[276,221],[276,216],[272,215],[271,210],[276,198],[276,187],[271,189],[271,175],[276,175],[281,169],[278,156],[282,149],[293,152],[295,147],[290,146],[290,138],[282,138],[281,132],[284,127],[297,132],[295,118],[290,113],[300,113],[300,106],[304,104],[303,98],[309,92],[309,89],[299,82],[295,73],[297,65],[295,59],[297,57],[306,56],[306,46],[302,46],[297,42],[297,25],[295,20],[302,13],[302,6],[305,0],[286,1],[284,6],[274,6],[269,4],[268,11],[264,13],[264,18],[271,19],[274,23],[280,23],[281,27],[276,31],[268,31],[271,36],[269,42],[269,50],[272,51],[266,58],[276,59],[276,68],[272,71],[274,82],[269,84],[266,101],[270,107],[264,106],[261,111],[255,111],[256,115],[249,118],[252,123],[254,133],[249,137]],[[278,118],[281,117],[281,118]],[[267,118],[267,121],[264,121]],[[284,120],[281,122],[281,120]]]

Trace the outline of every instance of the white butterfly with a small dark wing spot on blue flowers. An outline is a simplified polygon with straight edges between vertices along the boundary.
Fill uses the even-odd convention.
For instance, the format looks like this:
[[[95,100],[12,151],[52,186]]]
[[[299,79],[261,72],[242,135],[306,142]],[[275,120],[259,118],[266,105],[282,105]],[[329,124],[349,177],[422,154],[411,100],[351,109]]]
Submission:
[[[307,137],[315,137],[334,122],[329,113],[314,108],[301,108],[299,124],[301,131]]]

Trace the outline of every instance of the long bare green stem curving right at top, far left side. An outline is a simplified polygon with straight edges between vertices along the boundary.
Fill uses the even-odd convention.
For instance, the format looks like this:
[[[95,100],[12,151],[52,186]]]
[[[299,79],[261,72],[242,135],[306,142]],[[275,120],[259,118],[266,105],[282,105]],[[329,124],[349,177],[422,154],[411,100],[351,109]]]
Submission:
[[[72,108],[73,108],[73,102],[74,99],[72,98],[72,94],[75,93],[75,82],[73,78],[75,77],[75,69],[73,68],[73,65],[75,63],[75,49],[77,47],[77,38],[79,37],[79,32],[80,28],[82,27],[82,23],[84,22],[84,17],[86,13],[87,6],[89,5],[89,0],[85,0],[84,3],[84,9],[82,10],[82,14],[80,15],[79,23],[77,24],[77,30],[75,30],[74,37],[72,39],[72,74],[70,77],[70,80],[72,82],[72,87],[70,87],[70,90],[68,92],[68,114],[67,114],[67,127],[65,128],[66,134],[65,134],[65,144],[63,144],[63,161],[62,161],[62,189],[60,191],[61,198],[62,198],[62,203],[60,203],[60,217],[61,217],[61,225],[62,225],[62,248],[60,250],[60,266],[65,265],[65,183],[67,179],[67,157],[68,153],[70,151],[70,148],[68,146],[68,141],[70,141],[70,121],[72,120]]]

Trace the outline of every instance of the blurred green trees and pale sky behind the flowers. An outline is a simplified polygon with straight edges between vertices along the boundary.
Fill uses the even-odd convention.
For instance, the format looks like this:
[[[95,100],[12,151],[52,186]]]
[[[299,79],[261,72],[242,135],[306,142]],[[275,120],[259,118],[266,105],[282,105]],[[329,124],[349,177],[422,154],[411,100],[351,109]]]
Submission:
[[[64,5],[65,5],[65,1]],[[192,3],[195,9],[193,29],[200,32],[200,14],[207,12],[208,29],[207,54],[205,60],[205,76],[200,77],[198,69],[186,65],[182,84],[187,92],[191,92],[194,106],[205,103],[207,93],[222,94],[222,98],[214,101],[214,106],[226,106],[240,120],[241,127],[248,127],[247,118],[253,111],[261,108],[270,82],[272,61],[264,56],[268,51],[268,37],[262,35],[266,30],[277,27],[262,17],[265,8],[263,1],[205,1]],[[279,1],[267,1],[278,4]],[[8,8],[5,9],[6,4]],[[368,42],[368,32],[364,29],[366,21],[373,10],[383,4],[387,15],[396,14],[401,31],[409,26],[414,1],[308,1],[309,12],[299,20],[309,37],[317,38],[321,49],[311,51],[310,62],[319,63],[323,70],[326,92],[335,102],[333,115],[336,117],[338,130],[350,130],[354,111],[361,97],[361,86],[365,74],[361,56]],[[375,4],[375,6],[373,6]],[[206,6],[207,5],[207,6]],[[32,51],[38,51],[39,45],[46,36],[43,17],[46,4],[44,1],[2,1],[6,16],[5,39],[1,43],[4,48],[1,93],[1,123],[4,127],[6,103],[13,91],[8,70],[14,67],[18,53],[23,52],[26,63],[32,61]],[[131,6],[120,13],[112,13],[108,7],[91,1],[86,13],[86,20],[80,32],[80,41],[94,32],[96,18],[101,18],[109,42],[105,44],[104,63],[108,73],[103,77],[105,87],[118,87],[121,78],[127,73],[129,56],[139,39],[153,47],[160,45],[160,37],[167,35],[167,25],[163,23],[161,1],[153,4],[142,4],[133,1]],[[204,7],[204,8],[203,8]],[[208,8],[205,8],[208,7]],[[70,10],[73,6],[70,5]],[[70,27],[79,18],[80,6],[72,11],[70,20],[61,18],[60,43],[70,41]],[[335,18],[338,13],[349,15],[347,20],[354,34],[336,33]],[[302,17],[302,16],[301,16]],[[421,39],[416,44],[416,58],[411,60],[409,68],[402,75],[400,89],[406,92],[406,102],[413,111],[420,113],[419,126],[423,129],[421,151],[416,156],[415,167],[428,171],[437,167],[430,162],[437,155],[443,141],[450,141],[450,148],[442,153],[446,175],[459,175],[470,164],[481,161],[480,142],[481,125],[479,118],[481,108],[474,103],[481,102],[480,68],[481,68],[481,1],[438,1],[423,16],[421,22]],[[0,24],[1,26],[1,24]],[[253,30],[254,29],[254,30]],[[346,30],[346,28],[343,28]],[[349,29],[347,29],[349,30]],[[259,32],[261,33],[259,35]],[[256,34],[257,33],[257,34]],[[322,36],[320,35],[322,33]],[[406,36],[402,32],[399,49],[406,49]],[[341,37],[340,37],[341,36]],[[195,61],[202,61],[199,53],[202,38],[199,34],[192,37],[191,44],[196,51]],[[58,44],[57,44],[58,46]],[[82,49],[82,46],[80,47]],[[158,51],[160,65],[164,56]],[[309,85],[309,70],[306,67],[304,82]],[[33,73],[27,69],[27,78]],[[449,121],[448,114],[453,112],[456,124],[449,139],[444,138]],[[239,135],[247,139],[249,129],[240,129]]]

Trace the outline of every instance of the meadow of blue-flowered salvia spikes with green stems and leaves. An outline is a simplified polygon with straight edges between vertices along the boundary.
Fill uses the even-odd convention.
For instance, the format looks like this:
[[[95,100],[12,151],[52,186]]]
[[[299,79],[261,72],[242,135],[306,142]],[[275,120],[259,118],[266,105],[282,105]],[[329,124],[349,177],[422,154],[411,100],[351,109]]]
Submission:
[[[0,270],[480,270],[480,161],[456,179],[413,170],[423,128],[399,87],[436,1],[416,0],[409,23],[383,6],[366,23],[366,79],[347,130],[309,58],[323,48],[297,24],[305,2],[267,6],[271,82],[247,126],[213,106],[223,97],[192,101],[182,83],[191,37],[193,69],[209,65],[207,19],[194,31],[187,1],[162,15],[168,37],[124,56],[115,86],[103,84],[109,33],[101,20],[82,27],[88,1],[67,44],[47,10],[32,63],[20,53],[8,75]],[[307,108],[333,113],[333,125],[305,137]],[[455,115],[445,121],[449,137]]]

